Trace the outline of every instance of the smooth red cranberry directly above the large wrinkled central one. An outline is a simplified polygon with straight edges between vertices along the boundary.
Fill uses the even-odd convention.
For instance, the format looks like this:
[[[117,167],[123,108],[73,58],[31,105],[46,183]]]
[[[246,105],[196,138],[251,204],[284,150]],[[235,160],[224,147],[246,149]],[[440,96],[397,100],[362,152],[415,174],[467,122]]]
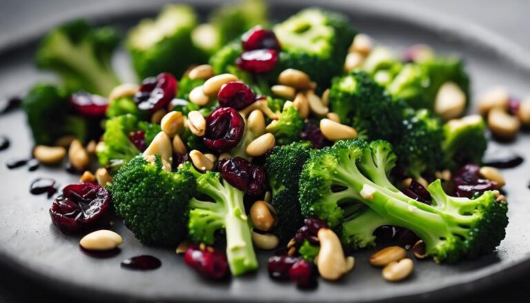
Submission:
[[[242,110],[255,102],[255,96],[251,88],[238,81],[229,82],[221,86],[217,94],[219,105]]]

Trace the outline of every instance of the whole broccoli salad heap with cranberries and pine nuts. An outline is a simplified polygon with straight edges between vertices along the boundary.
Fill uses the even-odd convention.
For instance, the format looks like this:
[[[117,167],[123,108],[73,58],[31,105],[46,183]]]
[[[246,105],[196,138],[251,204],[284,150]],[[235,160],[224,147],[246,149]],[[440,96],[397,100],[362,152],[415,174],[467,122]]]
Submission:
[[[495,88],[467,114],[460,57],[398,55],[321,8],[274,23],[259,0],[204,23],[172,4],[121,34],[81,20],[50,31],[36,62],[59,81],[22,101],[35,159],[81,175],[49,212],[84,251],[115,251],[117,216],[204,277],[261,265],[312,287],[349,274],[360,249],[377,246],[370,264],[397,282],[414,259],[460,262],[504,239],[504,178],[482,159],[489,137],[530,124],[530,101]],[[137,83],[112,68],[121,43]],[[122,266],[160,266],[140,259]]]

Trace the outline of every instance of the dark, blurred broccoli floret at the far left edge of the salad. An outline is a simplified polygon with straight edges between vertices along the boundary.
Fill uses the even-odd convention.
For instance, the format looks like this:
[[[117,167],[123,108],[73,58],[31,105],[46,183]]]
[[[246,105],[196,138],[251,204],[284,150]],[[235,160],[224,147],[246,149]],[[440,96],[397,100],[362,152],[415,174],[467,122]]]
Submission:
[[[23,99],[22,106],[35,144],[55,145],[55,140],[66,135],[86,141],[87,121],[68,115],[68,95],[61,88],[51,84],[37,84]]]

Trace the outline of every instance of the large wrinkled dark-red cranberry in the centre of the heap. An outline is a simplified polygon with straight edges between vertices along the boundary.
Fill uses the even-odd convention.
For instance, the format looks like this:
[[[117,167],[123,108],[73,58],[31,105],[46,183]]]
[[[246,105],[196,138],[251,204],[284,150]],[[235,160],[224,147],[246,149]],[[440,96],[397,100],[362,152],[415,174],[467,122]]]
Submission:
[[[245,130],[245,120],[230,107],[217,108],[206,117],[204,144],[211,150],[224,153],[234,148]]]

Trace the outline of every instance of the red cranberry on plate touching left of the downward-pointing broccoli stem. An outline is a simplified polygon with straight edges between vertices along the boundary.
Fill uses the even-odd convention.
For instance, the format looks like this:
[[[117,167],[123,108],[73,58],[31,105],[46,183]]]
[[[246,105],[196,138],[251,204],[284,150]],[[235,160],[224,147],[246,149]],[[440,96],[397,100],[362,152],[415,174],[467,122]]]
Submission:
[[[186,249],[184,262],[208,279],[222,279],[228,273],[226,256],[212,247],[204,250],[193,245]]]

